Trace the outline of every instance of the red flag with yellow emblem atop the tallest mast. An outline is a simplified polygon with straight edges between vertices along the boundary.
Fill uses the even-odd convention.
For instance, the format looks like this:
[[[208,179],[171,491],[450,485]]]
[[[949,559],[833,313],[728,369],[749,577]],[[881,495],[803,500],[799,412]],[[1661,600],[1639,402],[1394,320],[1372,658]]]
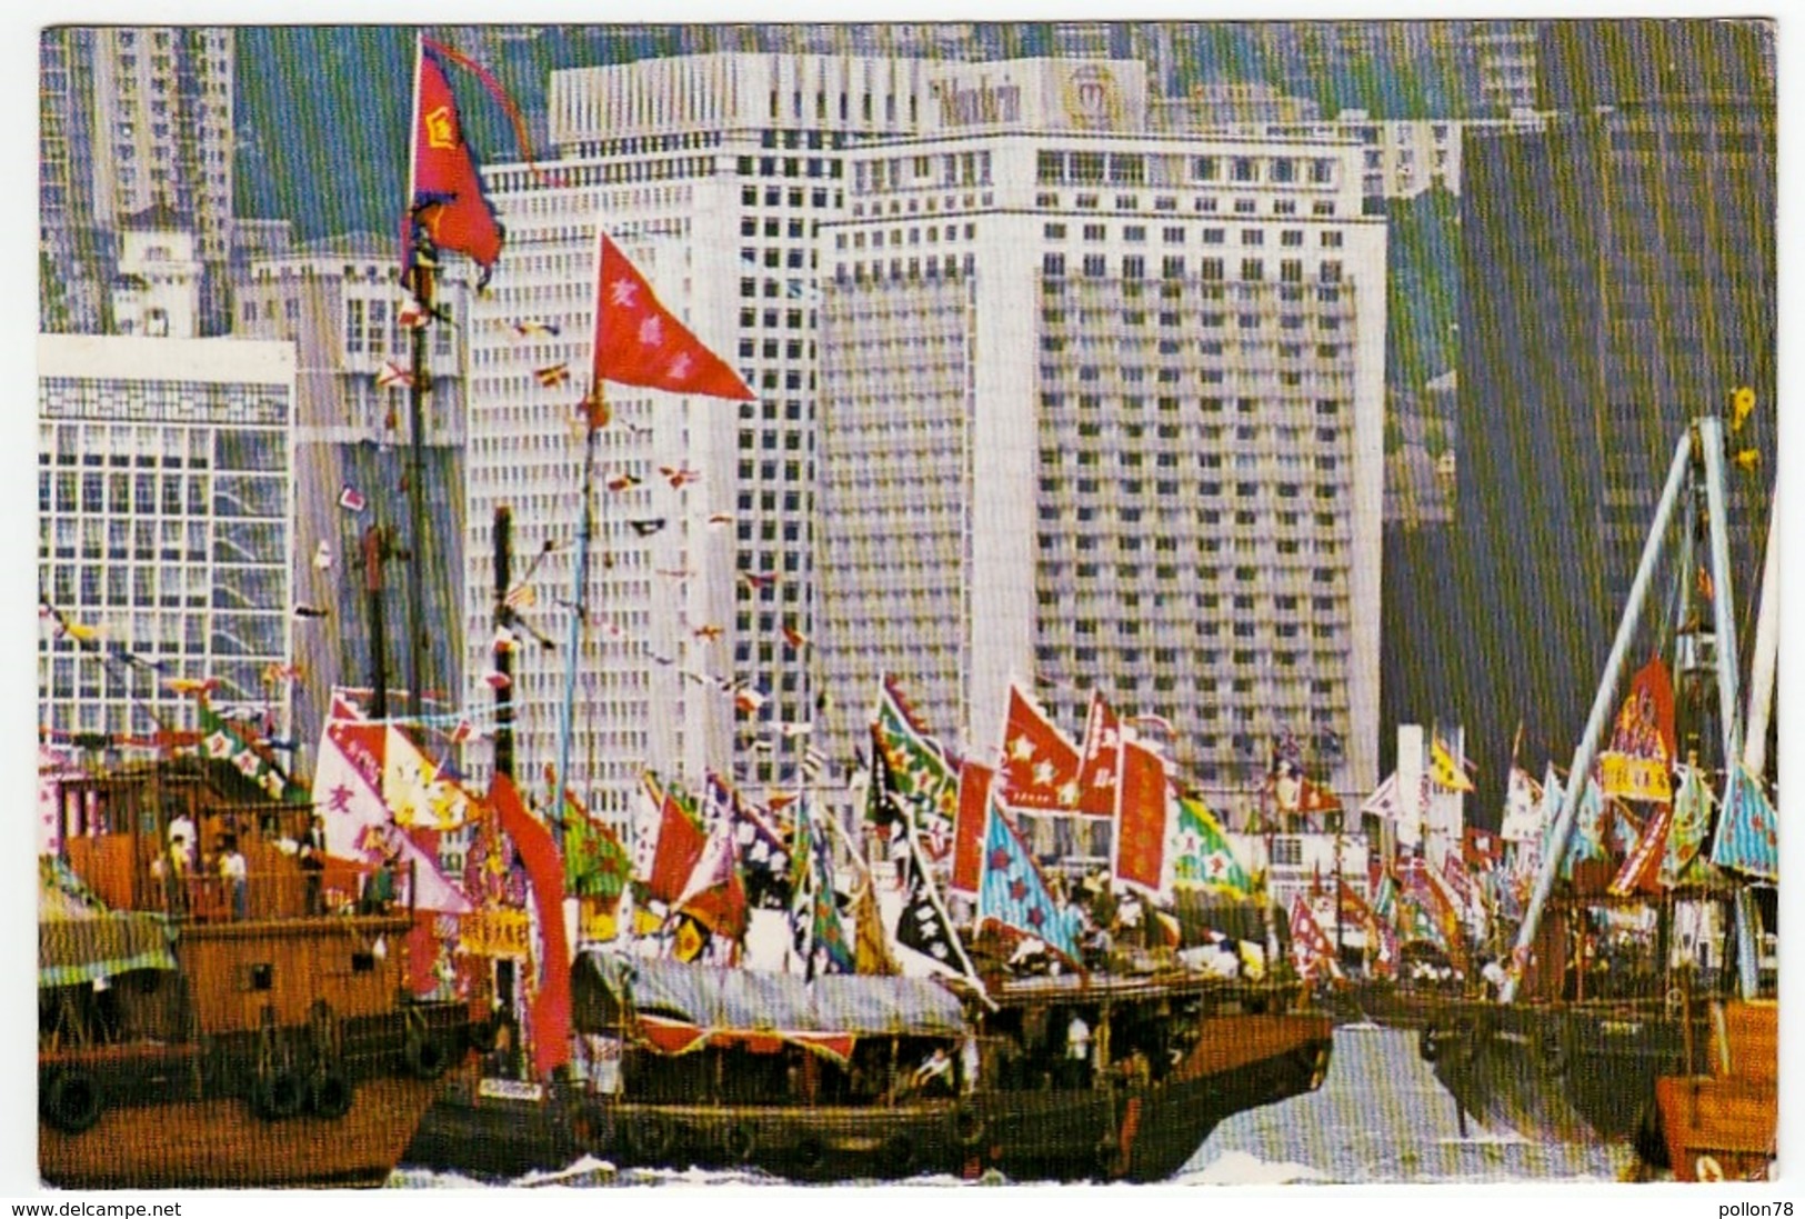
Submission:
[[[464,143],[457,99],[439,56],[421,43],[413,92],[413,170],[408,182],[408,217],[403,219],[401,251],[412,267],[415,226],[439,251],[469,255],[484,278],[502,256],[502,226],[482,193],[477,161]]]

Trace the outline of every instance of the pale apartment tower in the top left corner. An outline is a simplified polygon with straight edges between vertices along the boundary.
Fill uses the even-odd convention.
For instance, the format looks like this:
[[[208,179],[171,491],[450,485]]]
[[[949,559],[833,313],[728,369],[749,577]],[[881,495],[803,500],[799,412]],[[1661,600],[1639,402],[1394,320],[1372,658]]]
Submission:
[[[117,233],[166,208],[206,271],[200,332],[224,334],[231,253],[233,31],[49,27],[40,63],[45,332],[105,332]]]

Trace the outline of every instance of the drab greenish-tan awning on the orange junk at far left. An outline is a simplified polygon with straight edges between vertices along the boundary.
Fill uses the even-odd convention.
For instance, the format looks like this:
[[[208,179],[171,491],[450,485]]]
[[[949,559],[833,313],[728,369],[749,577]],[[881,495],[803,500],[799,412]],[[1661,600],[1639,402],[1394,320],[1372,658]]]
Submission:
[[[38,986],[173,970],[170,932],[161,914],[106,910],[61,860],[38,870]]]

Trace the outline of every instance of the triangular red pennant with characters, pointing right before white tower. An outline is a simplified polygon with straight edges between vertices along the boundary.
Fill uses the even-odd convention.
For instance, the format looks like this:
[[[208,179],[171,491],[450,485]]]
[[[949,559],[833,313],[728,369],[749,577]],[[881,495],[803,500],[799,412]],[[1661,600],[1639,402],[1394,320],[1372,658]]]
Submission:
[[[596,276],[596,383],[751,401],[745,381],[653,296],[626,255],[601,235]]]

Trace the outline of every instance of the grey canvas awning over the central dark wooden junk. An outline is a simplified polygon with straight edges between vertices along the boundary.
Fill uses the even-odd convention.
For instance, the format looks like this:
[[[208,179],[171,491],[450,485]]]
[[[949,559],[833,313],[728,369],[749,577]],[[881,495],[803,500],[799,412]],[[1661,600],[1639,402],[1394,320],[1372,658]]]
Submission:
[[[578,970],[637,1015],[643,1031],[655,1031],[652,1040],[670,1053],[724,1038],[838,1049],[857,1037],[966,1031],[958,999],[928,979],[830,973],[805,982],[789,973],[650,961],[594,948],[581,955]]]

